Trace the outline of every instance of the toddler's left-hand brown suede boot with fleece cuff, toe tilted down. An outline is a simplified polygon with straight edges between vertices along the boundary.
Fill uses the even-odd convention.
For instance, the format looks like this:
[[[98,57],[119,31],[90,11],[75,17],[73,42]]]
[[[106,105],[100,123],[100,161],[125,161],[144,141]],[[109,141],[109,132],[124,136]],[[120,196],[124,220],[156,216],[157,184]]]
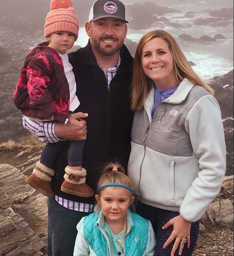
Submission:
[[[52,169],[37,162],[33,173],[29,175],[25,181],[41,194],[53,198],[54,192],[50,184],[52,176],[54,176],[54,171]]]

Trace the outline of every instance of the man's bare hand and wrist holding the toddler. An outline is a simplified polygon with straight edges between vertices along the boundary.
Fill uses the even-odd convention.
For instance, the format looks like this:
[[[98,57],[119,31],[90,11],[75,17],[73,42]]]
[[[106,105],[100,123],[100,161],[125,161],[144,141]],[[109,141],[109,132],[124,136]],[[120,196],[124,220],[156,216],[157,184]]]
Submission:
[[[78,112],[68,116],[67,124],[56,123],[54,133],[57,137],[68,139],[69,141],[84,141],[87,134],[86,121],[82,118],[88,117],[87,113]]]

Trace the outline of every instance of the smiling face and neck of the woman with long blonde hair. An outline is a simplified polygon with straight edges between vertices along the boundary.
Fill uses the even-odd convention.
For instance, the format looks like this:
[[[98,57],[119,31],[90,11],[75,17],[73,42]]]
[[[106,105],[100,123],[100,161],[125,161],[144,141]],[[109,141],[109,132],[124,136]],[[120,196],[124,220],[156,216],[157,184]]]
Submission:
[[[155,37],[146,42],[142,48],[141,64],[145,74],[154,81],[159,90],[178,84],[173,57],[164,38]]]

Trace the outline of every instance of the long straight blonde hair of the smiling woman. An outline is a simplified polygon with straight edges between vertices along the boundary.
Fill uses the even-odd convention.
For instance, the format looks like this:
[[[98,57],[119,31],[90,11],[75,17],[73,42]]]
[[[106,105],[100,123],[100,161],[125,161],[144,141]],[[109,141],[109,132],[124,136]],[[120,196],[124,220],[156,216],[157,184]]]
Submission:
[[[174,37],[166,31],[155,30],[146,33],[140,39],[137,46],[133,63],[133,77],[131,84],[131,109],[141,110],[144,107],[145,98],[151,89],[152,80],[144,73],[141,64],[141,58],[144,45],[148,41],[156,37],[163,38],[168,43],[168,47],[172,54],[174,72],[176,74],[178,83],[180,83],[184,78],[187,78],[192,83],[204,87],[211,95],[214,95],[215,91],[193,71]]]

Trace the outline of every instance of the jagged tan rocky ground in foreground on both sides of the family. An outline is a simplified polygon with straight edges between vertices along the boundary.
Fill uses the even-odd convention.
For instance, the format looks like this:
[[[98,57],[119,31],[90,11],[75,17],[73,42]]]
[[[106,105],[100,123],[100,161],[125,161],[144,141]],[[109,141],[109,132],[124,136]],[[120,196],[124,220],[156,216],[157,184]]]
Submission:
[[[35,157],[28,160],[18,168],[9,164],[0,164],[1,256],[47,255],[47,197],[39,194],[25,182],[26,176],[31,174],[38,159],[39,157]],[[219,195],[203,215],[199,240],[193,255],[208,256],[215,251],[218,254],[212,255],[233,255],[232,230],[233,175],[225,177]],[[215,238],[220,233],[223,237],[220,237],[220,241],[216,241]],[[231,235],[227,235],[229,233]],[[207,240],[205,245],[204,240]],[[223,241],[226,243],[222,243]],[[223,250],[226,250],[225,254],[221,254]],[[206,252],[208,254],[205,254]]]

